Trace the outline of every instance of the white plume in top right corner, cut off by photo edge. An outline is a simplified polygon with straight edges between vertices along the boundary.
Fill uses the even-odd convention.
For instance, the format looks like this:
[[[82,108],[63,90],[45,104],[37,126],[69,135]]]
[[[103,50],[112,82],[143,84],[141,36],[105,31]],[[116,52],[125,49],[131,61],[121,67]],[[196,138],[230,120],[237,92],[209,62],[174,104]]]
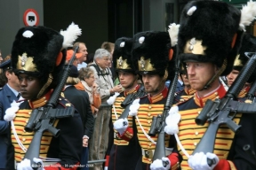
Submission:
[[[245,30],[245,26],[249,26],[252,23],[252,20],[256,16],[256,2],[250,0],[247,2],[247,5],[244,5],[241,10],[241,19],[239,23],[239,29]]]

